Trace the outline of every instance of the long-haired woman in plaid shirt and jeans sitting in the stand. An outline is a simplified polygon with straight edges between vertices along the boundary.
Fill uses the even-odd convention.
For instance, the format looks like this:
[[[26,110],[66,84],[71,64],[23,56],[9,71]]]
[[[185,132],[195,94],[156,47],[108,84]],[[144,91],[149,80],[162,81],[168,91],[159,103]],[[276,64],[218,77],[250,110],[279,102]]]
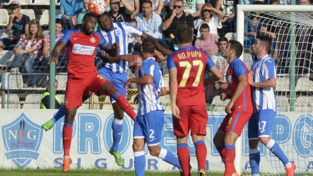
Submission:
[[[19,40],[13,51],[16,54],[16,66],[20,66],[24,60],[24,66],[26,73],[34,73],[33,66],[35,60],[39,60],[41,57],[41,47],[45,35],[43,29],[38,20],[34,19],[30,21],[29,28],[21,39]],[[36,87],[36,76],[29,75],[27,80],[27,87]]]

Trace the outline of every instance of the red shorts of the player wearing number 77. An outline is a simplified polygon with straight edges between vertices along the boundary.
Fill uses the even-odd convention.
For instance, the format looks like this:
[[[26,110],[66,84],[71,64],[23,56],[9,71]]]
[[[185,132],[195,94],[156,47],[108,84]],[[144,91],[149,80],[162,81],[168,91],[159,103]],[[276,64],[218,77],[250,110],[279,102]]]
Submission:
[[[205,106],[179,107],[180,119],[173,117],[174,134],[176,136],[187,136],[190,134],[206,135],[206,123],[208,120]]]

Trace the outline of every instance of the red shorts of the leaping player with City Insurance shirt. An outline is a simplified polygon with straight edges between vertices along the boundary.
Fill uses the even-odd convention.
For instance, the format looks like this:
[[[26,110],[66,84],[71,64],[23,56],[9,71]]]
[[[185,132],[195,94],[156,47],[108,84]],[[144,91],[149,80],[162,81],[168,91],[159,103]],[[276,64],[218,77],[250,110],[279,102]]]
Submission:
[[[109,81],[97,72],[90,74],[84,79],[68,78],[67,88],[65,90],[65,108],[82,106],[82,98],[85,91],[88,90],[97,93],[101,85],[106,82]]]

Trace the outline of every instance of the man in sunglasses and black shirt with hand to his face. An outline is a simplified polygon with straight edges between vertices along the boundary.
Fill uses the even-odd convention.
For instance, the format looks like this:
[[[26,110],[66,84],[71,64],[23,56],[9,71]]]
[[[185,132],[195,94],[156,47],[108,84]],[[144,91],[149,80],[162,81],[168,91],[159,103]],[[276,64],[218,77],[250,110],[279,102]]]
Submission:
[[[172,13],[165,17],[162,23],[162,29],[166,38],[175,39],[179,24],[186,23],[192,28],[192,32],[194,31],[194,18],[191,15],[185,14],[182,0],[175,0],[173,7]]]

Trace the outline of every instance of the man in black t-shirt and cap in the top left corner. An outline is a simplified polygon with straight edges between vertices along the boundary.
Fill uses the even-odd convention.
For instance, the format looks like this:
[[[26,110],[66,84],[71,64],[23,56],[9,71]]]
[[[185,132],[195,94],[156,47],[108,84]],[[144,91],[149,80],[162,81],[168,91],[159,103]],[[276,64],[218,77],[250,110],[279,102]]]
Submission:
[[[0,39],[0,51],[3,48],[9,48],[10,45],[17,44],[21,36],[28,30],[30,18],[27,15],[21,13],[21,4],[18,0],[11,2],[12,14],[9,18],[9,23],[5,27],[5,33],[9,35],[9,38]],[[9,30],[12,30],[12,36],[10,36]]]

